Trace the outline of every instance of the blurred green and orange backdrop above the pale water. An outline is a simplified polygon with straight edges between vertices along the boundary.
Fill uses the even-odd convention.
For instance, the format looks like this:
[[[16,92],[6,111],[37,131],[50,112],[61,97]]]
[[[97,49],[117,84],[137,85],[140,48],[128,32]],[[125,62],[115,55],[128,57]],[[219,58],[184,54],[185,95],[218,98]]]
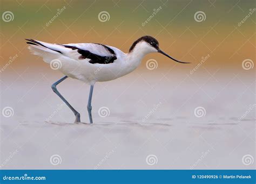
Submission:
[[[29,55],[24,38],[103,43],[127,52],[133,41],[150,35],[159,40],[165,52],[193,62],[189,67],[177,65],[174,71],[188,73],[202,56],[210,54],[205,68],[214,71],[221,66],[219,73],[232,73],[241,68],[244,59],[255,57],[255,13],[240,23],[254,8],[254,1],[1,1],[1,11],[14,14],[12,21],[1,21],[1,63],[18,54],[14,69],[47,67],[31,61],[37,58]],[[109,13],[105,22],[98,19],[102,11]],[[194,19],[198,11],[205,13],[205,20]],[[158,54],[148,55],[144,61],[150,58],[159,60],[158,72],[175,64]],[[144,65],[139,69],[145,69]]]

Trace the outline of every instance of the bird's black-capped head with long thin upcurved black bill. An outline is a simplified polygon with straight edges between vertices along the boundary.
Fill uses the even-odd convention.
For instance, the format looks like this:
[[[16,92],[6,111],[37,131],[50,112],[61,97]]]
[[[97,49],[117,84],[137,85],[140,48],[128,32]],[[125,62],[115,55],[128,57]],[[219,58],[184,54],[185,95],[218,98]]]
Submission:
[[[132,44],[132,46],[129,49],[129,52],[133,52],[135,47],[136,47],[136,49],[138,49],[139,52],[143,52],[145,54],[159,52],[176,62],[190,63],[190,62],[183,62],[183,61],[176,60],[176,59],[172,58],[170,55],[161,51],[161,49],[159,48],[159,43],[158,43],[157,39],[155,39],[151,36],[143,36],[143,37],[140,37],[139,39],[137,39],[136,41],[134,41],[134,43]]]

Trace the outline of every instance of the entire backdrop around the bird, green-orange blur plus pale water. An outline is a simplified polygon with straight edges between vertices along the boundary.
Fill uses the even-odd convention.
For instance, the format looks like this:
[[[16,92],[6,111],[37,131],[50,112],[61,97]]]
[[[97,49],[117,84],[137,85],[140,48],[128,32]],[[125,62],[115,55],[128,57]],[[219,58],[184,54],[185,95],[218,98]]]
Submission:
[[[56,168],[49,162],[53,153],[62,157],[58,168],[95,168],[111,150],[114,156],[100,168],[254,168],[241,159],[255,158],[255,8],[253,0],[1,0],[2,163],[19,151],[5,168]],[[149,54],[131,74],[96,83],[95,125],[45,123],[74,117],[50,88],[63,74],[31,55],[25,38],[102,43],[128,52],[144,35],[192,63]],[[88,122],[89,86],[68,79],[58,89]],[[107,117],[99,116],[101,107],[109,109]],[[90,145],[81,147],[85,140]],[[203,152],[208,156],[197,162]],[[152,167],[145,164],[151,153],[158,158]]]

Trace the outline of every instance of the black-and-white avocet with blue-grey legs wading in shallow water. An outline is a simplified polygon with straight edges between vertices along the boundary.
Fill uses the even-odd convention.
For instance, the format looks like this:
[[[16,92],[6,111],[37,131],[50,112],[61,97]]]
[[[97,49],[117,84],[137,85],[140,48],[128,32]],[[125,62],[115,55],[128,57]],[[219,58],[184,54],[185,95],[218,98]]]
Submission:
[[[58,69],[65,76],[53,83],[51,88],[76,116],[75,122],[80,122],[80,114],[59,93],[56,86],[71,77],[89,84],[90,94],[87,104],[90,123],[92,123],[92,92],[96,82],[111,81],[131,73],[136,69],[146,54],[159,52],[168,58],[180,62],[164,53],[159,48],[158,41],[151,36],[143,36],[132,44],[128,53],[112,46],[95,43],[80,44],[50,44],[43,41],[26,39],[29,49],[35,55],[43,57],[51,68]]]

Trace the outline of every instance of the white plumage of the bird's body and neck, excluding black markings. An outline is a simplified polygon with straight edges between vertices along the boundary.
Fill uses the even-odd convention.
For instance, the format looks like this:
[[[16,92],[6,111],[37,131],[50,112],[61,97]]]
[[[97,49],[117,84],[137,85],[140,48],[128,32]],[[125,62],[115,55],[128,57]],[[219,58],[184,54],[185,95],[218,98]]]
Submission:
[[[150,46],[146,42],[140,42],[134,46],[129,53],[124,53],[120,49],[112,46],[105,46],[101,44],[64,44],[64,46],[76,47],[89,51],[99,56],[113,56],[105,47],[109,47],[114,52],[116,60],[112,63],[90,63],[91,59],[79,59],[77,49],[71,49],[59,44],[44,43],[36,41],[37,45],[30,45],[29,49],[33,54],[43,57],[43,60],[51,65],[57,63],[58,69],[64,75],[78,79],[90,85],[95,82],[111,81],[118,77],[131,73],[136,69],[144,55],[151,52],[157,52],[157,49]],[[43,46],[42,46],[43,45]],[[56,52],[58,51],[58,52]]]

